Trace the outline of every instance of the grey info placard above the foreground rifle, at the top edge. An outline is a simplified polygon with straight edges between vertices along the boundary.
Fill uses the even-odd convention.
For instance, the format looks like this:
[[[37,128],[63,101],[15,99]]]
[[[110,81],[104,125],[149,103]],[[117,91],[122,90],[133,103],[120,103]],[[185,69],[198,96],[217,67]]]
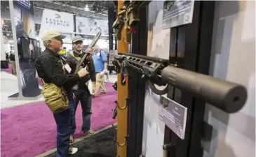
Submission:
[[[194,1],[167,0],[163,3],[162,29],[177,27],[192,22]]]

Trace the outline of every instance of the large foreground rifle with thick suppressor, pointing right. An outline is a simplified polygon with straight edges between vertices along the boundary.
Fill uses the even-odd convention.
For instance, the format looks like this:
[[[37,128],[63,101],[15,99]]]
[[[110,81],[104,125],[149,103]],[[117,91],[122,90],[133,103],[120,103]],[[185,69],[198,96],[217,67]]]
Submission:
[[[117,73],[124,76],[128,76],[128,68],[137,70],[151,91],[158,95],[167,94],[170,87],[176,87],[228,113],[241,110],[247,99],[247,91],[241,84],[177,68],[166,59],[119,53],[112,63]],[[160,91],[154,84],[166,88]]]

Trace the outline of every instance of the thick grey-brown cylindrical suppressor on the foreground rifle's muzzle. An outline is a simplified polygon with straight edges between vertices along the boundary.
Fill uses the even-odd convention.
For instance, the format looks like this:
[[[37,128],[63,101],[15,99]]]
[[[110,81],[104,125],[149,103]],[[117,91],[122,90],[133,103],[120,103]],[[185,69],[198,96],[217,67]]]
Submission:
[[[209,75],[167,66],[161,71],[163,82],[191,93],[228,113],[241,110],[247,99],[247,91],[240,84],[220,80]]]

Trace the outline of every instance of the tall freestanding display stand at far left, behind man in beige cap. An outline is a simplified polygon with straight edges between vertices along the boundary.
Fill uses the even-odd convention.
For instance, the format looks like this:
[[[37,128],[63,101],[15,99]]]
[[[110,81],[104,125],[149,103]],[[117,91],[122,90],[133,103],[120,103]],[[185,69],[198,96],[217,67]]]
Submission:
[[[27,9],[20,3],[14,3],[10,7],[12,7],[10,10],[14,12],[11,12],[13,14],[11,21],[12,24],[15,24],[14,30],[16,32],[15,35],[13,34],[13,40],[17,42],[17,45],[14,45],[15,64],[13,63],[11,66],[15,66],[17,72],[19,92],[8,96],[8,98],[15,100],[37,99],[41,94],[41,89],[39,89],[39,82],[36,78],[35,61],[41,52],[39,42],[33,38],[35,33],[33,14],[31,9]]]

